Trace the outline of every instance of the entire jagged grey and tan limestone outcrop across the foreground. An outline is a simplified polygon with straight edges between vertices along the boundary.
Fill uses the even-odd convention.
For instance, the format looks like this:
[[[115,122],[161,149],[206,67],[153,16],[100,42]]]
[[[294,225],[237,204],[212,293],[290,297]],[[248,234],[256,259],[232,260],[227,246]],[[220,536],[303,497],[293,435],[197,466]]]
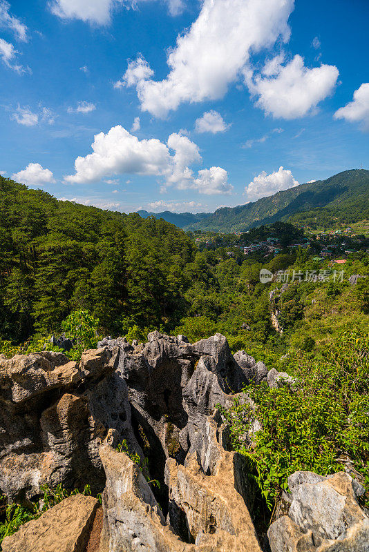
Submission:
[[[1,357],[0,491],[9,502],[27,502],[45,483],[104,489],[101,539],[100,518],[94,548],[84,552],[95,552],[99,540],[100,552],[261,552],[252,523],[255,489],[245,457],[230,451],[218,409],[237,394],[255,411],[242,391],[250,382],[297,384],[245,351],[231,355],[220,334],[195,344],[159,332],[146,344],[105,338],[79,362],[48,351]],[[255,418],[245,446],[260,428]],[[362,489],[348,475],[297,472],[289,484],[288,515],[278,509],[269,529],[272,552],[367,550],[368,518],[356,500]],[[58,515],[69,548],[52,531],[50,538],[58,551],[79,551],[70,546],[84,537],[70,535],[84,535],[90,517],[66,529],[66,511]],[[37,540],[46,538],[53,516],[55,509],[26,524],[4,551],[27,552],[27,539],[53,551]]]

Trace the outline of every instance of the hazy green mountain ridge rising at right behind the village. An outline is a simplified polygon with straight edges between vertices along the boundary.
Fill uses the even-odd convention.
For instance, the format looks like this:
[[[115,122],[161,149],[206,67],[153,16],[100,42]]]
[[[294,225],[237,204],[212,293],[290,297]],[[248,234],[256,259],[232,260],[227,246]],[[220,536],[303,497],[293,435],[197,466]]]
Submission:
[[[299,221],[298,213],[312,210],[326,217],[347,216],[354,222],[369,218],[369,170],[346,170],[263,197],[246,205],[223,207],[213,215],[185,226],[185,230],[236,232],[276,221]],[[196,215],[195,215],[196,216]]]

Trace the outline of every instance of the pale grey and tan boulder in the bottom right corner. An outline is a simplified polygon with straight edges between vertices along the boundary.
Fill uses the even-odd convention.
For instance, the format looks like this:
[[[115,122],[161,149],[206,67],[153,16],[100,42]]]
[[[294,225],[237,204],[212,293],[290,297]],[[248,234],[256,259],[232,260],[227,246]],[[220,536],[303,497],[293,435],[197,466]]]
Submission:
[[[268,531],[272,552],[368,552],[369,518],[357,502],[364,489],[350,475],[297,471],[288,484],[288,515]]]

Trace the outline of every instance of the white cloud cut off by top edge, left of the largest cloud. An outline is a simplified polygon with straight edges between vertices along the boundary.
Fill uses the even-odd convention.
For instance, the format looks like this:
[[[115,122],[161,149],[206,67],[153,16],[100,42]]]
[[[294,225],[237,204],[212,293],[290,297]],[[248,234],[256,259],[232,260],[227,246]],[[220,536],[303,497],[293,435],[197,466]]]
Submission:
[[[95,25],[108,25],[113,9],[117,6],[135,8],[140,1],[148,0],[50,0],[51,12],[61,19],[81,19]],[[182,11],[182,0],[167,0],[169,13]]]

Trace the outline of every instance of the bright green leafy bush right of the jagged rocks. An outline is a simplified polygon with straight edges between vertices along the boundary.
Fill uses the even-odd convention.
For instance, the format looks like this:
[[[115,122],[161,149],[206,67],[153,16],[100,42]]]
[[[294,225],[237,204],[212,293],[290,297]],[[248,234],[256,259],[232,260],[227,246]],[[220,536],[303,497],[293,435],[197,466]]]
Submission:
[[[223,410],[234,450],[252,462],[269,509],[297,470],[327,475],[350,466],[369,491],[368,349],[368,334],[344,331],[334,346],[315,356],[300,352],[288,357],[288,371],[297,379],[293,388],[247,386],[256,413],[238,400]],[[263,428],[250,443],[255,416]]]

